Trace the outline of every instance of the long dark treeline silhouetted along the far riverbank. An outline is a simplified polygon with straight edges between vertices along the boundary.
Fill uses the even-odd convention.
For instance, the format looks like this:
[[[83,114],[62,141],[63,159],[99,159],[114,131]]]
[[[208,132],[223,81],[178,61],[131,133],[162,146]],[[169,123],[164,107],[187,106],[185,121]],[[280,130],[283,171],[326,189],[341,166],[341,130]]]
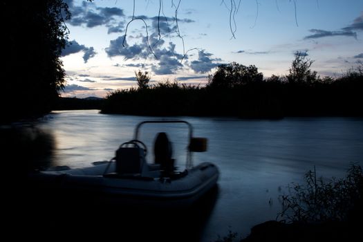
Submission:
[[[313,61],[296,53],[289,74],[263,79],[256,66],[235,62],[218,66],[206,86],[178,82],[148,85],[148,73],[136,73],[139,88],[118,90],[104,101],[102,113],[131,115],[362,116],[363,68],[339,78],[317,76]]]

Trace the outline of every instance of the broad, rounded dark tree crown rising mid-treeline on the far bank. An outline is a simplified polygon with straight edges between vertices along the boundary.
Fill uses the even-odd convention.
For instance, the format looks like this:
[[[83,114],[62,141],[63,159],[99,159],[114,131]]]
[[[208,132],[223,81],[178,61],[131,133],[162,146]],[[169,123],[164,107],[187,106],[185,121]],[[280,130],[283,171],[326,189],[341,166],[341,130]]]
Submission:
[[[232,88],[251,82],[261,82],[263,74],[254,65],[243,66],[236,62],[222,64],[214,75],[210,75],[207,86]]]

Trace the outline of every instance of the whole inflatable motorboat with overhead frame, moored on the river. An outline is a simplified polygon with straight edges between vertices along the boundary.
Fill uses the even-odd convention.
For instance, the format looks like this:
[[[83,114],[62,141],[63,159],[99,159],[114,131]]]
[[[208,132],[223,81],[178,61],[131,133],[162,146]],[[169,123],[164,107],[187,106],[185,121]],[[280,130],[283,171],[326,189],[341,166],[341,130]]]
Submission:
[[[187,160],[183,171],[177,171],[172,158],[172,145],[167,133],[156,134],[154,161],[148,162],[148,148],[139,140],[145,124],[186,124]],[[219,171],[212,162],[196,166],[193,152],[207,151],[207,139],[193,136],[192,124],[180,120],[144,121],[136,125],[132,140],[122,143],[109,161],[93,162],[93,166],[71,169],[51,167],[30,174],[30,180],[46,188],[71,194],[97,196],[113,203],[153,207],[189,207],[216,186]]]

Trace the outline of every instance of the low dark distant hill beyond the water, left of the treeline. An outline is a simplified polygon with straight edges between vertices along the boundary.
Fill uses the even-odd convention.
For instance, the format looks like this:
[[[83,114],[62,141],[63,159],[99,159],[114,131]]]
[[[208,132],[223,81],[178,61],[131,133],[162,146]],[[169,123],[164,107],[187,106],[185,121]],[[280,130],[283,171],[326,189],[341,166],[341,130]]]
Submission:
[[[53,110],[102,109],[103,102],[101,97],[59,97]]]

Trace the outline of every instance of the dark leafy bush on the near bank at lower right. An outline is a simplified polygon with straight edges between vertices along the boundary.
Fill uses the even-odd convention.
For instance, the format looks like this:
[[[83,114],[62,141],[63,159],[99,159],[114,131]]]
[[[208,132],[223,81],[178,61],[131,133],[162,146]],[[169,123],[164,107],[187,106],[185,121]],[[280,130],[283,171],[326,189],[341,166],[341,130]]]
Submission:
[[[352,165],[339,180],[324,181],[317,178],[316,171],[308,171],[305,181],[305,185],[292,184],[290,194],[281,196],[281,218],[301,223],[348,221],[352,213],[362,210],[363,171],[359,165]]]

